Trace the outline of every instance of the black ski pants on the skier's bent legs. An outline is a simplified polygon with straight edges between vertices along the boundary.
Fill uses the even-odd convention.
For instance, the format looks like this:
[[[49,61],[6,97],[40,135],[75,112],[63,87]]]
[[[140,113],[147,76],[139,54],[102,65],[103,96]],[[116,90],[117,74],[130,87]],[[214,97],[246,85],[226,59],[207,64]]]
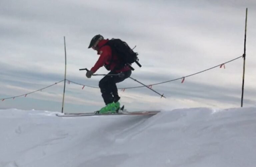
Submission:
[[[101,91],[101,96],[106,105],[112,102],[117,102],[120,99],[120,97],[118,96],[116,83],[122,82],[126,78],[129,78],[131,73],[132,73],[132,70],[121,72],[121,75],[114,75],[114,76],[106,75],[100,80],[99,87]],[[119,74],[119,73],[115,71],[110,71],[108,74]]]

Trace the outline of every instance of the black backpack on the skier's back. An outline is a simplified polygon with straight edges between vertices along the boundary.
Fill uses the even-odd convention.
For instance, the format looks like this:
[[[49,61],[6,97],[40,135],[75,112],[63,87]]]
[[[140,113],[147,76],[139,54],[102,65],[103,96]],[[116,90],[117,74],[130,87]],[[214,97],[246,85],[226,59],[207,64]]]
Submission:
[[[111,39],[109,40],[105,45],[108,45],[111,47],[112,54],[116,54],[119,58],[120,63],[116,66],[116,70],[123,68],[124,66],[128,65],[132,70],[134,70],[133,67],[131,67],[132,63],[136,63],[139,67],[141,65],[139,64],[139,59],[137,57],[138,53],[134,52],[129,45],[120,40],[120,39]],[[113,57],[111,58],[111,61],[108,65],[105,65],[105,67],[108,69],[111,63],[113,62]],[[108,69],[109,70],[109,69]]]

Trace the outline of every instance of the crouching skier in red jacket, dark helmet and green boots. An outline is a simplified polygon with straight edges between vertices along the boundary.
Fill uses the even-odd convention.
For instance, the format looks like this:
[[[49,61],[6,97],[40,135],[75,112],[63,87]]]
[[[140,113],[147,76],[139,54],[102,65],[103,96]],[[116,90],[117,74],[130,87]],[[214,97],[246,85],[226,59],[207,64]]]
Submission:
[[[92,38],[88,48],[92,48],[100,55],[95,65],[86,73],[87,78],[91,78],[100,67],[105,66],[110,72],[104,76],[100,82],[99,87],[102,98],[106,104],[105,107],[99,110],[99,113],[115,113],[120,109],[120,97],[116,83],[124,81],[130,77],[132,70],[129,66],[122,66],[117,55],[113,53],[111,47],[107,45],[109,39],[104,39],[101,35],[96,35]],[[109,75],[110,74],[110,75]],[[121,75],[111,75],[121,74]]]

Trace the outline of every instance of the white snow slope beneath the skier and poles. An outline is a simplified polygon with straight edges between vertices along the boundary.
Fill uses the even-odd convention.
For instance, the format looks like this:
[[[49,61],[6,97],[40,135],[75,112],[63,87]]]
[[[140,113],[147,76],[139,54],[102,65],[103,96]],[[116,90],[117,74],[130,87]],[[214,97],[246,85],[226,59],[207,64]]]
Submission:
[[[256,107],[155,116],[0,110],[0,167],[254,167]]]

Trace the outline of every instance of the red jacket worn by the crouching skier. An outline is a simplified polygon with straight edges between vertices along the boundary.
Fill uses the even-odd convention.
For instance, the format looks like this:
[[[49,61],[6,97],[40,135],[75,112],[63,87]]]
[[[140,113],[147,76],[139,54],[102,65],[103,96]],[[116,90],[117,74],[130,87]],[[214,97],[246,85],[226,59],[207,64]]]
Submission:
[[[120,62],[120,61],[118,61],[118,57],[116,54],[112,55],[112,50],[111,50],[110,46],[108,46],[108,45],[103,46],[107,42],[108,42],[108,39],[101,40],[98,43],[98,47],[100,48],[98,51],[98,54],[100,54],[100,57],[99,57],[98,61],[95,63],[95,65],[91,68],[91,71],[93,73],[95,73],[104,64],[109,64],[112,56],[113,56],[113,61],[110,65],[110,70],[113,70],[115,68],[115,66]],[[120,70],[116,70],[116,72],[124,72],[124,71],[128,71],[128,70],[130,70],[130,68],[128,66],[125,66],[124,68],[122,68]]]

